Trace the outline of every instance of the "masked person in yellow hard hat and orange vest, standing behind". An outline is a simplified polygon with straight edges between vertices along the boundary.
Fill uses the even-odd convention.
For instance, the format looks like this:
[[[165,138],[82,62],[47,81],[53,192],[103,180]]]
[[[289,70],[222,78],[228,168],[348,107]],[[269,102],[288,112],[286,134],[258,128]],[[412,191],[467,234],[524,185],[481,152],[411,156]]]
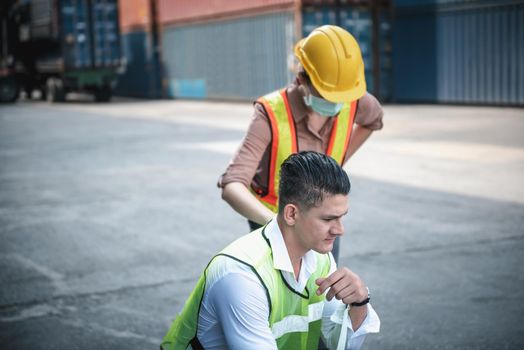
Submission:
[[[222,198],[252,230],[277,212],[279,169],[290,154],[321,152],[343,165],[382,128],[382,107],[366,92],[362,54],[350,33],[322,26],[294,51],[295,81],[255,102],[247,134],[218,181]],[[333,253],[338,258],[338,240]]]

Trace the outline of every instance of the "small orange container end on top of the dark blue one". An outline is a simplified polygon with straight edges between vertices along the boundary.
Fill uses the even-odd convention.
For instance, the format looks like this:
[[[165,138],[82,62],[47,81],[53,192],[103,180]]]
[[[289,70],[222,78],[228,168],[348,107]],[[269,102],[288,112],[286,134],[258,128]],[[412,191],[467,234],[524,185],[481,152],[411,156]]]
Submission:
[[[151,25],[150,0],[118,0],[122,33],[145,30]]]

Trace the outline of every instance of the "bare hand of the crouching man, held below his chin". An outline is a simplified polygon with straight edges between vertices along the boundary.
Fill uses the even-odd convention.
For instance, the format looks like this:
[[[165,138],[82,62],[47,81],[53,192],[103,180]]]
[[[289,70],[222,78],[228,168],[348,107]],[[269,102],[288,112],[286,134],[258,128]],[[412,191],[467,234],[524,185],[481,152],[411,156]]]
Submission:
[[[317,295],[324,293],[326,299],[333,297],[342,300],[344,304],[360,303],[368,297],[368,290],[360,277],[348,269],[341,267],[337,271],[325,278],[317,278],[315,283],[318,285]]]

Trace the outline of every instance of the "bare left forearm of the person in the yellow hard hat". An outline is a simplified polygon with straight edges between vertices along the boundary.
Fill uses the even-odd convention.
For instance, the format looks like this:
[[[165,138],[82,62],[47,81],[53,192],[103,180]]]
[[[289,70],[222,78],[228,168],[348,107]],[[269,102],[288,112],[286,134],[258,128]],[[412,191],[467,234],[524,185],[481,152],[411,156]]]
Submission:
[[[240,182],[225,185],[222,189],[222,199],[237,213],[260,225],[265,225],[275,215]]]

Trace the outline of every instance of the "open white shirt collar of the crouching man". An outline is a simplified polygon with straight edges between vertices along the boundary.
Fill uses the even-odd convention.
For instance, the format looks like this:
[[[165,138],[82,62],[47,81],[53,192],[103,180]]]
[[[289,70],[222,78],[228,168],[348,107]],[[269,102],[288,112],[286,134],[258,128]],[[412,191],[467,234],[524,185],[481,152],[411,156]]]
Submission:
[[[277,270],[287,271],[294,274],[293,265],[291,264],[291,259],[289,258],[286,242],[284,242],[284,236],[282,236],[282,231],[280,231],[276,217],[267,224],[264,233],[271,244],[271,250],[273,252],[273,267]],[[313,250],[309,250],[302,257],[302,266],[300,269],[305,269],[307,275],[311,275],[313,272],[315,272],[316,267],[317,257],[315,252]]]

